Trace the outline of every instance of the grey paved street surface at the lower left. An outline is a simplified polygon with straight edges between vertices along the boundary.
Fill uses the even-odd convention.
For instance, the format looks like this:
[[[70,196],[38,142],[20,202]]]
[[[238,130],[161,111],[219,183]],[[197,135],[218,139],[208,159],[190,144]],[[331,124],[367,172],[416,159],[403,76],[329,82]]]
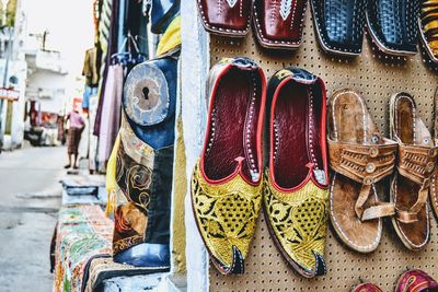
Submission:
[[[48,292],[65,148],[0,154],[0,291]]]

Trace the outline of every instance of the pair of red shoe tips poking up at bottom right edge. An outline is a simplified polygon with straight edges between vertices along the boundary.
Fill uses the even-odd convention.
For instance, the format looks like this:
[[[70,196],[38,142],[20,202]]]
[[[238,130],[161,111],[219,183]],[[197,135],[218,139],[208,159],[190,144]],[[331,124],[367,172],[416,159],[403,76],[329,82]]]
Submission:
[[[395,287],[395,292],[437,292],[438,282],[422,270],[408,270],[400,278]],[[361,283],[355,287],[351,292],[382,292],[373,283]]]

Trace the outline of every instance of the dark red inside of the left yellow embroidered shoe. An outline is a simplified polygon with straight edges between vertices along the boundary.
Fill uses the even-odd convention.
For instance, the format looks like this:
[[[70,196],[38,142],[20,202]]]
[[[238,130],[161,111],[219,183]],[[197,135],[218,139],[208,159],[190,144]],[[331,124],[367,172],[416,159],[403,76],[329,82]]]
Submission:
[[[250,182],[250,168],[260,172],[256,150],[261,106],[258,79],[257,72],[232,68],[219,81],[204,161],[210,179],[231,175],[239,160],[243,160],[242,173]]]

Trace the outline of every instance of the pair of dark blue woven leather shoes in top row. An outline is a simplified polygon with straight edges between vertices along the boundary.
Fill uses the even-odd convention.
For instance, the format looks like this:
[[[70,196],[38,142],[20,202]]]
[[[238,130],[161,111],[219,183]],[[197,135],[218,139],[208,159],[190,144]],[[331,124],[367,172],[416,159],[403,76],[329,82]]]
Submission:
[[[379,50],[393,56],[417,52],[417,1],[311,0],[314,28],[321,47],[331,54],[357,56],[367,24]]]

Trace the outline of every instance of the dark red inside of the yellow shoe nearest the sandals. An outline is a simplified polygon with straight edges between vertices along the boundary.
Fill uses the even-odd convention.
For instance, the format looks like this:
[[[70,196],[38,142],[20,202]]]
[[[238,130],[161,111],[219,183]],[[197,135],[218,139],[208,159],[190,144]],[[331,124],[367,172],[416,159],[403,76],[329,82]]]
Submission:
[[[309,174],[309,163],[323,170],[321,152],[321,96],[306,84],[285,84],[273,103],[274,174],[283,188],[292,188]]]

